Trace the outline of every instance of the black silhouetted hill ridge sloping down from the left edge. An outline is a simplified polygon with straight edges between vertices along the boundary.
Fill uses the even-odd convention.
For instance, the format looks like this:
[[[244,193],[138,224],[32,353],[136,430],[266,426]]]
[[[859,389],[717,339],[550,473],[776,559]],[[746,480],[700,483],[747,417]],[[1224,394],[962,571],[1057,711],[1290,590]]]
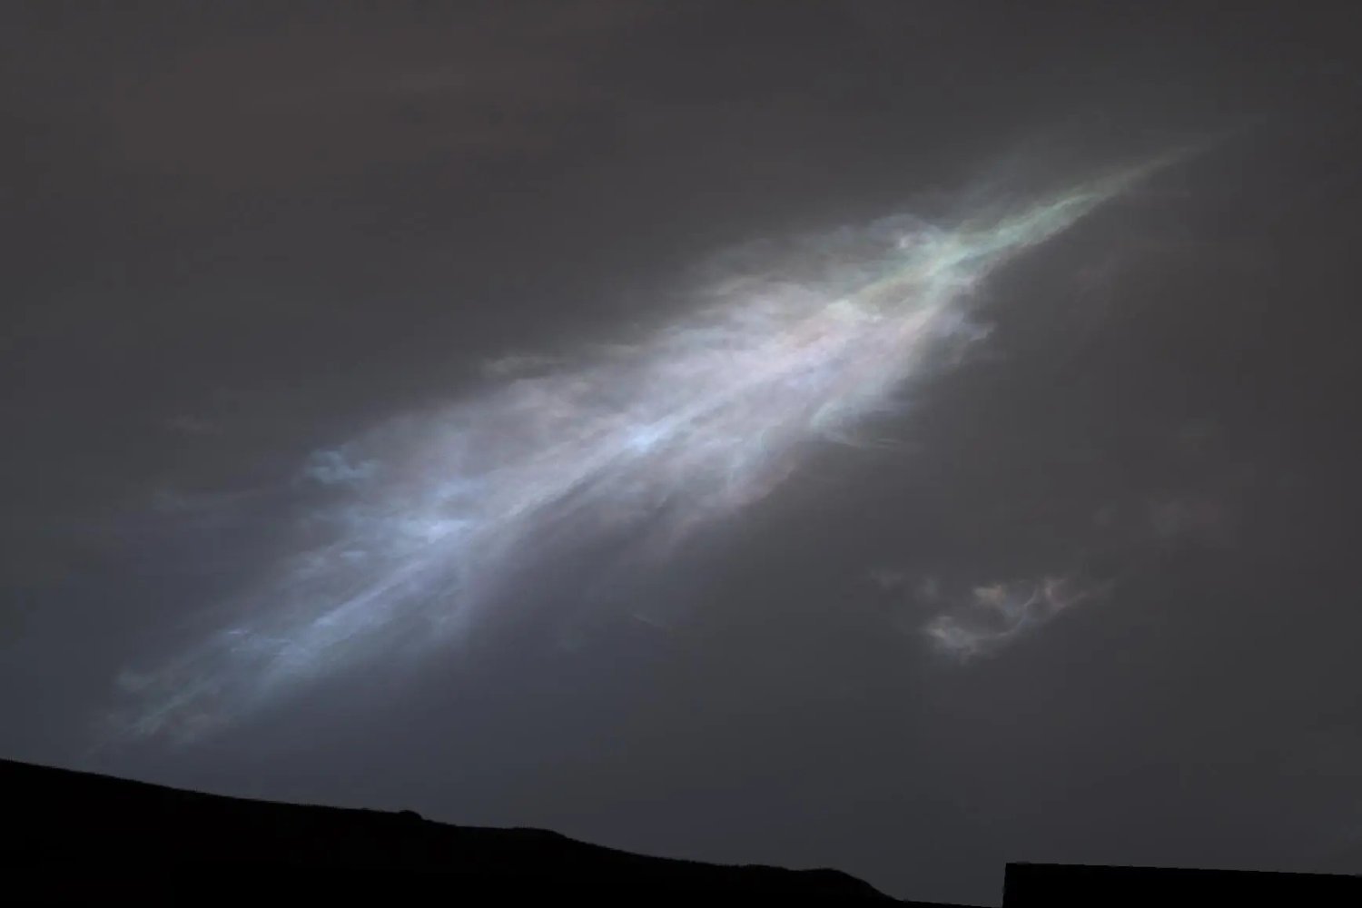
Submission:
[[[139,875],[159,883],[166,871],[183,870],[204,871],[200,878],[218,881],[214,888],[230,888],[268,870],[321,886],[381,871],[385,894],[417,877],[440,875],[458,877],[455,888],[462,894],[477,885],[639,898],[734,894],[893,901],[836,870],[646,858],[541,829],[437,824],[410,810],[225,798],[12,761],[0,761],[0,779],[5,864],[41,869],[44,885],[61,892],[83,881],[99,879],[105,886]],[[69,873],[52,873],[59,867]]]

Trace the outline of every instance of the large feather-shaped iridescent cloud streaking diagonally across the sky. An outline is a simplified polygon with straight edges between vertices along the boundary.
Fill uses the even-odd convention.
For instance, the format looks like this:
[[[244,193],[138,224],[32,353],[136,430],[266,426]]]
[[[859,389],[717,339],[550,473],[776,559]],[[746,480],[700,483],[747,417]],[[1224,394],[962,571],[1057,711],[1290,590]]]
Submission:
[[[635,532],[666,551],[846,437],[967,324],[971,290],[1156,165],[951,229],[887,219],[720,287],[637,344],[380,426],[304,470],[335,501],[236,623],[118,679],[116,738],[193,739],[300,682],[458,637],[537,553]],[[809,276],[809,271],[813,272]],[[511,372],[511,374],[504,374]]]

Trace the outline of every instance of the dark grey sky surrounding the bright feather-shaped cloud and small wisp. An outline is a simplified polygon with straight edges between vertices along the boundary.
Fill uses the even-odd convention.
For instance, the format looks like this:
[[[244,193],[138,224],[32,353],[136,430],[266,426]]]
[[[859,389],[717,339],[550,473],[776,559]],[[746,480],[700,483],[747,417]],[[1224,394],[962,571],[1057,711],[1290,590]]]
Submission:
[[[1362,69],[1327,10],[5,4],[3,756],[960,903],[1008,860],[1362,871]],[[99,746],[120,671],[278,554],[256,490],[309,452],[682,312],[735,244],[1188,142],[990,280],[906,444],[810,455],[628,607],[553,561],[458,652]],[[1081,595],[1007,645],[925,633],[1042,577]]]

